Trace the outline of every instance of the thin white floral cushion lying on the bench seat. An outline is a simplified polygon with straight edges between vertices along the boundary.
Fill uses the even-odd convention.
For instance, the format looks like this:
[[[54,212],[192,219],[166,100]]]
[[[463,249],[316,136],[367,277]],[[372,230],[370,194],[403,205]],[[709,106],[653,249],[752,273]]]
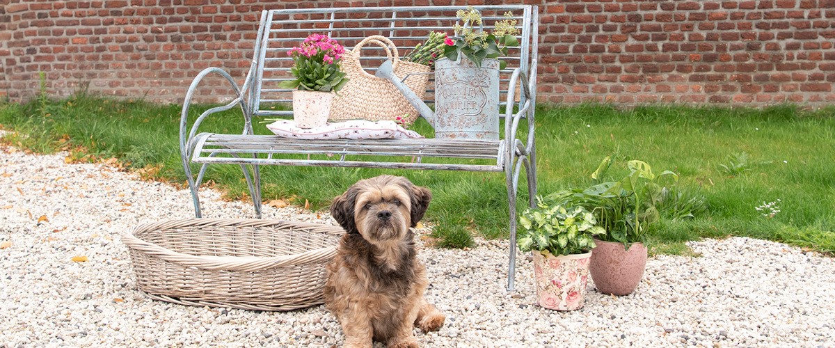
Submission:
[[[389,139],[423,138],[412,130],[404,129],[394,121],[351,120],[331,122],[322,127],[301,129],[292,120],[278,120],[266,125],[272,133],[293,139]]]

